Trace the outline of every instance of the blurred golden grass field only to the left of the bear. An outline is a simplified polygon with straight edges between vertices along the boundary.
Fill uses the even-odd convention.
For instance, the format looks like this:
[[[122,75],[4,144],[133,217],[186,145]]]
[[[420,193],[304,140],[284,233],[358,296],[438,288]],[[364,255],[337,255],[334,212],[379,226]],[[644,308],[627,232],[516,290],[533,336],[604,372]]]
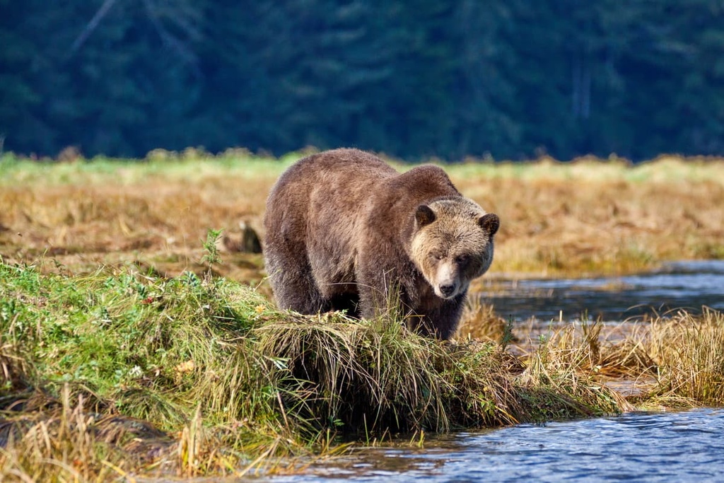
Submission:
[[[261,230],[266,193],[282,170],[281,161],[254,159],[21,164],[0,163],[6,260],[72,273],[136,263],[169,276],[203,271],[200,240],[209,228],[232,238],[240,222]],[[219,274],[251,283],[264,277],[258,253],[224,260]]]

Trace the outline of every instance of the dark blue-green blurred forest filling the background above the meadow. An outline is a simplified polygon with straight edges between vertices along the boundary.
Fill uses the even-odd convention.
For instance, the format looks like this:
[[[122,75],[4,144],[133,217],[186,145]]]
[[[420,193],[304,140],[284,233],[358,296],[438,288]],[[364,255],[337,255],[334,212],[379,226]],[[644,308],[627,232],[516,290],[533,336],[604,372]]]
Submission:
[[[724,154],[724,1],[0,0],[0,138]]]

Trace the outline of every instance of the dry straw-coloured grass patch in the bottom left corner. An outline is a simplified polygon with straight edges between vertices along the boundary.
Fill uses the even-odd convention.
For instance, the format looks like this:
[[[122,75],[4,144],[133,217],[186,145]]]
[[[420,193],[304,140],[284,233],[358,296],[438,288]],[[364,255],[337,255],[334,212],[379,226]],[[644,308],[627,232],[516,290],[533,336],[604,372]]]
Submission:
[[[13,412],[15,412],[13,414]],[[174,452],[171,438],[145,421],[88,411],[81,397],[44,411],[6,413],[1,424],[0,477],[26,482],[109,481],[151,469]]]

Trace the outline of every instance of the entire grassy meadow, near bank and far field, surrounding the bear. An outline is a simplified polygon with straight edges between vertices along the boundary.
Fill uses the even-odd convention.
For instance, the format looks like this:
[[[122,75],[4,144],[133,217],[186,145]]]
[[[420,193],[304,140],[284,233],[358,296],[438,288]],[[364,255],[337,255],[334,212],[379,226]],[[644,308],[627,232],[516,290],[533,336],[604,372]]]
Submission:
[[[278,311],[242,225],[264,239],[266,194],[299,156],[0,158],[2,479],[295,471],[396,434],[424,444],[429,432],[724,405],[717,311],[616,340],[571,325],[526,353],[490,306],[468,307],[454,343],[393,313]],[[724,258],[724,160],[445,169],[502,220],[483,280]],[[612,380],[642,383],[624,397]]]

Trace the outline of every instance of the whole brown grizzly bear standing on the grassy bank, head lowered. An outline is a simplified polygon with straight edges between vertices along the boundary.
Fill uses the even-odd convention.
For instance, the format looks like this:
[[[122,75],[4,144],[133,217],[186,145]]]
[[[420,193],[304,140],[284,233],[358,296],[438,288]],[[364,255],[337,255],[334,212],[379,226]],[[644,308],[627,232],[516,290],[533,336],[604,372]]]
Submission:
[[[271,189],[266,271],[281,308],[371,318],[392,304],[413,329],[445,340],[492,262],[499,226],[439,167],[400,174],[364,151],[324,151]]]

